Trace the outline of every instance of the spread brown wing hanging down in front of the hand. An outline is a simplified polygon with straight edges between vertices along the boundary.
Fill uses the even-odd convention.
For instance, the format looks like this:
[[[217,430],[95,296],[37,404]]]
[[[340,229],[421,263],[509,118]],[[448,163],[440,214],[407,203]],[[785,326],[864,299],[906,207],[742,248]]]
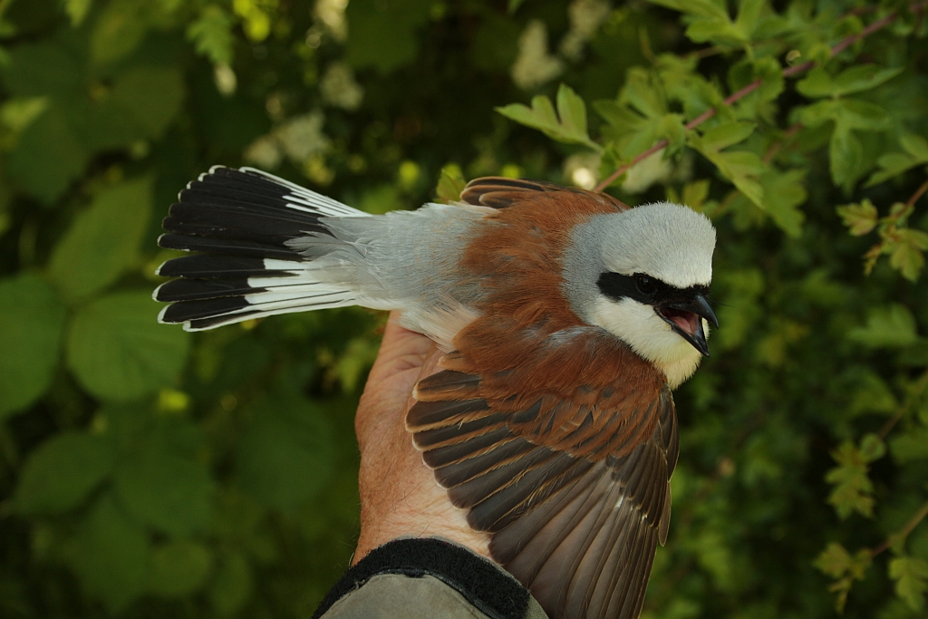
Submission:
[[[446,355],[406,424],[451,501],[552,619],[634,619],[670,518],[673,397],[637,355],[572,331],[526,342],[530,367],[489,375]],[[618,373],[578,382],[571,371],[585,363]]]

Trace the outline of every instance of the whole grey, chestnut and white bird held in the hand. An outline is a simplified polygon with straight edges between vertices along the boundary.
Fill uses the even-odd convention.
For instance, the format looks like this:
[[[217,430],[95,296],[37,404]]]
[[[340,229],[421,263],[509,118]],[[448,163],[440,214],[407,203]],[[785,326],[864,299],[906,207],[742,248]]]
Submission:
[[[371,215],[252,168],[179,194],[159,321],[361,305],[441,349],[406,429],[552,619],[634,619],[670,522],[672,390],[709,355],[715,227],[670,202],[483,177]]]

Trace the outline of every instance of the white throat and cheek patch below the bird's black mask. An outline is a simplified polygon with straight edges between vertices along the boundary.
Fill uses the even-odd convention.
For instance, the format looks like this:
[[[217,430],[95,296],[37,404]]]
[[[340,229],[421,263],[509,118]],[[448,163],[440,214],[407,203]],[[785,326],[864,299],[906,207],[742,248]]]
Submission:
[[[590,317],[594,325],[608,330],[663,371],[671,389],[689,379],[702,359],[700,352],[671,329],[651,305],[627,297],[611,301],[599,296]],[[702,329],[708,338],[705,319]]]

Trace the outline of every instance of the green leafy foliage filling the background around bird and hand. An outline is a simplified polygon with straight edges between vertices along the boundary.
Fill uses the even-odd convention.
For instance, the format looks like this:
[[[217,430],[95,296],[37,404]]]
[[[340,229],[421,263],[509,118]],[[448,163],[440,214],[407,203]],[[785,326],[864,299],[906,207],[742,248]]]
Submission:
[[[925,616],[926,7],[0,0],[0,616],[304,617],[350,561],[385,317],[157,325],[215,163],[372,213],[624,169],[709,214],[645,616]]]

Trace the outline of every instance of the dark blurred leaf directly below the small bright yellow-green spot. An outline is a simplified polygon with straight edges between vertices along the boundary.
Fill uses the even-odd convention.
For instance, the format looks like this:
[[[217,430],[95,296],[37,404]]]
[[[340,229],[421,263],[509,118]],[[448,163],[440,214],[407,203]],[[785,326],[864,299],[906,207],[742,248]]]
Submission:
[[[165,429],[157,429],[120,460],[115,487],[136,522],[167,535],[206,528],[213,499],[209,471],[178,449]]]

